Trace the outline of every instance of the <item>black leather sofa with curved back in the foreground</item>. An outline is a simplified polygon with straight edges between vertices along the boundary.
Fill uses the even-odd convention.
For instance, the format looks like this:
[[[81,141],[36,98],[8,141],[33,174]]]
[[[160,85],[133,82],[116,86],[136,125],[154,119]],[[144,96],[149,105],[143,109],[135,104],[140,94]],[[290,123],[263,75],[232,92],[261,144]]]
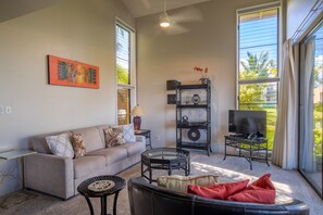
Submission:
[[[309,215],[309,206],[293,198],[275,204],[232,202],[206,199],[149,184],[141,177],[131,178],[127,182],[132,215]],[[142,206],[145,205],[145,206]]]

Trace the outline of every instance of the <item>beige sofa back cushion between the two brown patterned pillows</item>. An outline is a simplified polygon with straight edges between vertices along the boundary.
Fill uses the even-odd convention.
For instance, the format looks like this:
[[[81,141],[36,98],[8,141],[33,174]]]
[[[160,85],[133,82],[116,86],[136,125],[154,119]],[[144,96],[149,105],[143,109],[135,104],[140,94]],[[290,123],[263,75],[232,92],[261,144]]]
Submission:
[[[102,142],[97,127],[80,128],[71,131],[73,134],[82,135],[86,152],[91,152],[104,148],[104,142]]]

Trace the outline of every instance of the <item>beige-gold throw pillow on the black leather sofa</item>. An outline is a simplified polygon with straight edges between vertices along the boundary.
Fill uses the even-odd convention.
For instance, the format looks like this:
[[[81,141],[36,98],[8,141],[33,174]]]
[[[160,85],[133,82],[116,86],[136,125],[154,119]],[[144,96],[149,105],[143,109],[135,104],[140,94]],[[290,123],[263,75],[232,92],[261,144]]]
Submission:
[[[219,176],[160,176],[157,178],[157,185],[171,190],[187,192],[188,185],[209,186],[216,185]]]

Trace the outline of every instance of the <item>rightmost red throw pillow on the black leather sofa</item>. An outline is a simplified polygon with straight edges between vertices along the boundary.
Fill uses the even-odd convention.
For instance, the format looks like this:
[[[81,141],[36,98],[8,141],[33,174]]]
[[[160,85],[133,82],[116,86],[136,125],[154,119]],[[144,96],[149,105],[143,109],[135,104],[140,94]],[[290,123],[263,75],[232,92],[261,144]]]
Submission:
[[[270,174],[265,174],[258,180],[249,185],[245,190],[227,198],[236,202],[253,202],[262,204],[274,204],[276,189],[270,179]]]

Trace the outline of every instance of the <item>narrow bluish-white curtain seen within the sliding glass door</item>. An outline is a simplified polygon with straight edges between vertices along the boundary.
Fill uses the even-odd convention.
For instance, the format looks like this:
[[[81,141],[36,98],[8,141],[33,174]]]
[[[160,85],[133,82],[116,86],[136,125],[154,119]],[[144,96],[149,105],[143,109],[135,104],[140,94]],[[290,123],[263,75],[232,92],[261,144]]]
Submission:
[[[315,37],[311,37],[305,43],[305,126],[303,140],[301,141],[301,168],[307,172],[315,169],[314,161],[314,134],[313,134],[313,88],[314,88],[314,60],[315,60]]]

